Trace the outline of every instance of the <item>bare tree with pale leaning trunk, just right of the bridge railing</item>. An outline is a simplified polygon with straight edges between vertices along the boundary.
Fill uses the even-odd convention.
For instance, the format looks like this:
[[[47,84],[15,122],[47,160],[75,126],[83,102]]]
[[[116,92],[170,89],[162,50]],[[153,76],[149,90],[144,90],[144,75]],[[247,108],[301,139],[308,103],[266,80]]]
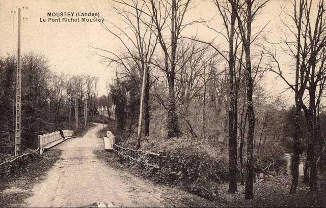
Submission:
[[[122,18],[126,24],[128,31],[121,26],[115,25],[107,26],[102,23],[103,28],[114,35],[122,43],[126,53],[118,55],[108,50],[99,49],[103,54],[98,55],[108,60],[108,65],[116,63],[124,70],[124,75],[131,76],[133,79],[142,79],[143,89],[141,92],[141,104],[145,104],[145,136],[149,135],[149,92],[150,92],[150,62],[156,47],[156,36],[153,33],[153,19],[149,17],[144,8],[146,7],[145,1],[114,1],[116,5],[113,9]],[[129,33],[130,32],[130,33]],[[134,50],[133,50],[134,49]],[[139,74],[135,77],[131,68],[136,66]],[[138,148],[140,147],[141,132],[142,132],[142,116],[143,106],[140,110],[140,121],[138,131]]]

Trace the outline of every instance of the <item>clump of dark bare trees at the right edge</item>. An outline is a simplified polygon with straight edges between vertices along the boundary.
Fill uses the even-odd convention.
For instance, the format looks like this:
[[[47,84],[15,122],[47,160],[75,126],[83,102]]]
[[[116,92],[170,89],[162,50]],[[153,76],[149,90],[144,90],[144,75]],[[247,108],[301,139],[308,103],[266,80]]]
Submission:
[[[313,6],[317,6],[317,13],[315,20],[312,20]],[[300,117],[301,110],[303,109],[306,117],[306,123],[309,132],[309,138],[307,140],[307,163],[310,170],[310,189],[312,191],[317,189],[317,170],[316,170],[316,109],[319,101],[316,104],[316,90],[320,82],[322,82],[325,69],[325,8],[324,1],[318,1],[318,4],[312,3],[309,0],[293,1],[294,12],[287,14],[294,22],[295,26],[283,21],[287,30],[293,35],[294,41],[291,38],[285,37],[282,39],[281,44],[284,44],[283,51],[295,60],[295,83],[292,84],[289,79],[284,76],[284,69],[278,61],[276,55],[276,47],[273,52],[269,52],[269,55],[274,66],[270,66],[271,71],[277,73],[285,83],[293,90],[295,94],[295,106],[296,106],[296,122],[295,122],[295,135],[293,142],[293,164],[294,171],[292,173],[292,185],[290,193],[296,192],[298,183],[298,160],[301,154],[301,142],[300,142]],[[315,8],[316,9],[316,8]],[[320,89],[322,91],[323,88]],[[305,91],[309,94],[309,106],[306,106]],[[322,92],[320,92],[322,93]],[[305,171],[305,181],[308,181],[308,172]]]

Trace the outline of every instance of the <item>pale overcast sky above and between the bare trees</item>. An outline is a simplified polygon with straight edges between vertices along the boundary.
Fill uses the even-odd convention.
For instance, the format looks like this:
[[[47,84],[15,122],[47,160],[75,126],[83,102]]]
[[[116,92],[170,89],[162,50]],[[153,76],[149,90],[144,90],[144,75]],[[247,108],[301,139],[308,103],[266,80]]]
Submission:
[[[117,16],[108,10],[107,2],[95,0],[42,0],[42,1],[19,1],[0,0],[0,53],[16,53],[17,47],[17,7],[28,7],[22,10],[21,26],[21,50],[22,52],[33,51],[44,54],[52,69],[70,74],[92,74],[98,76],[99,95],[106,92],[105,82],[107,78],[114,77],[114,70],[101,64],[100,58],[92,54],[92,48],[101,47],[111,51],[120,51],[121,44],[112,35],[104,31],[99,23],[64,23],[64,22],[40,22],[40,18],[47,18],[47,12],[99,12],[110,21],[118,23]],[[273,0],[255,22],[255,27],[260,28],[268,21],[265,31],[271,39],[280,35],[280,18],[283,0]],[[215,17],[216,27],[221,26],[217,9],[211,1],[194,1],[198,5],[188,13],[186,20]],[[118,23],[119,24],[119,23]],[[193,26],[185,31],[185,36],[199,34],[206,40],[215,37],[210,31],[203,31]],[[218,39],[219,40],[219,39]],[[221,38],[221,41],[223,39]],[[275,81],[274,75],[267,75],[266,88],[274,94],[284,90],[283,82]]]

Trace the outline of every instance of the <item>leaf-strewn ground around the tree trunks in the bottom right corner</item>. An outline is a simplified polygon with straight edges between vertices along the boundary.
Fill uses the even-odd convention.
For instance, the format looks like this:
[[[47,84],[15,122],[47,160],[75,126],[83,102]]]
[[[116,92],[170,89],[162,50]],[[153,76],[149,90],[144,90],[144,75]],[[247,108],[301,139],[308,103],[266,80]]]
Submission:
[[[300,180],[297,193],[289,194],[289,176],[269,177],[254,183],[254,199],[244,199],[244,186],[238,185],[236,194],[228,194],[228,184],[221,184],[219,193],[230,207],[326,207],[325,176],[319,175],[318,191],[310,192],[309,184]]]

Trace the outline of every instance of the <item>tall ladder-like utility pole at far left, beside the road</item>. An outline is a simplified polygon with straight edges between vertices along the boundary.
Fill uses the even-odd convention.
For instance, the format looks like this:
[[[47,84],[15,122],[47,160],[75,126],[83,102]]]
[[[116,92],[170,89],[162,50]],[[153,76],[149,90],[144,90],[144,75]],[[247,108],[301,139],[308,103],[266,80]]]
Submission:
[[[16,75],[16,132],[15,156],[20,154],[21,141],[21,66],[20,66],[20,8],[18,8],[18,44],[17,44],[17,75]]]

